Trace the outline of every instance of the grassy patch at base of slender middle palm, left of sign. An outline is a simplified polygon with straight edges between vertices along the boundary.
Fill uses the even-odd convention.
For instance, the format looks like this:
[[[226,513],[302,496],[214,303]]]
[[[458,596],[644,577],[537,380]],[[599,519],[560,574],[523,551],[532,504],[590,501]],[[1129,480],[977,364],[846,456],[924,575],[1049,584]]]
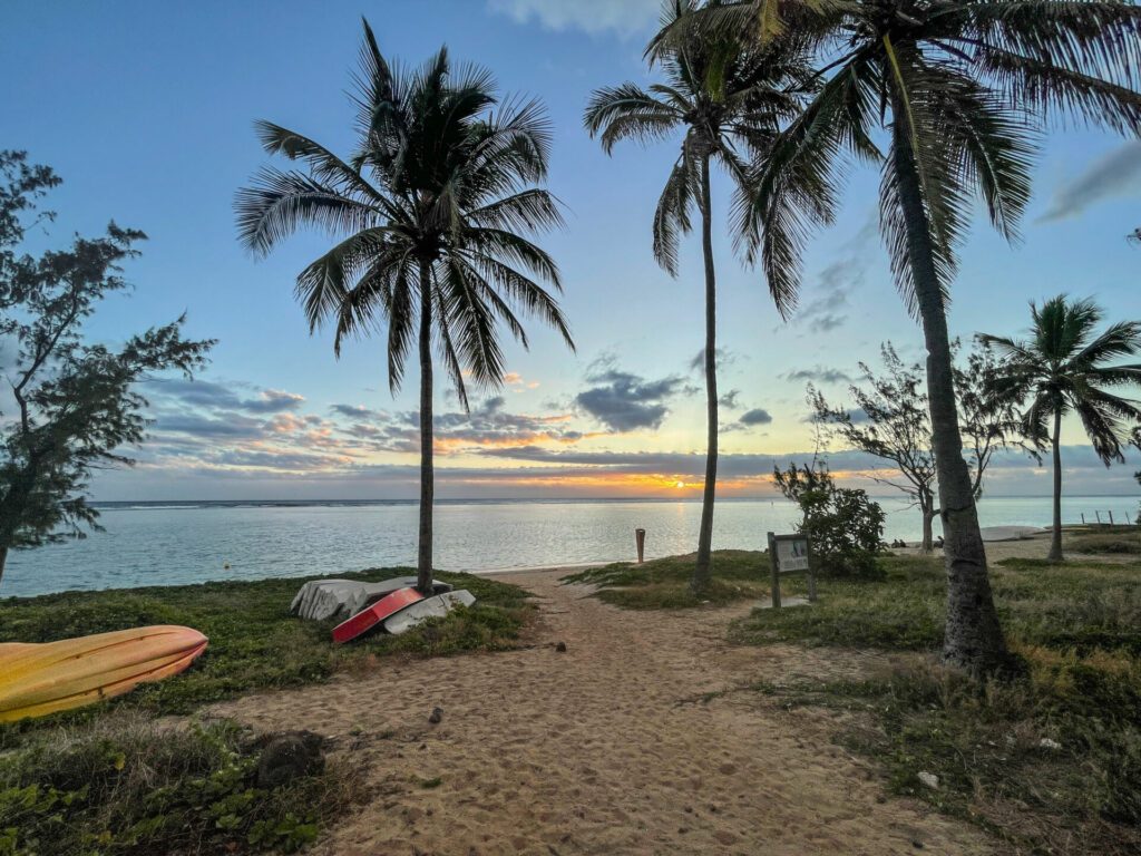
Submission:
[[[567,583],[592,583],[594,596],[628,609],[681,609],[704,604],[729,604],[768,597],[768,555],[748,550],[713,554],[713,579],[701,598],[689,590],[695,554],[652,559],[641,565],[616,563],[592,567],[569,576]],[[782,593],[785,581],[782,580]]]

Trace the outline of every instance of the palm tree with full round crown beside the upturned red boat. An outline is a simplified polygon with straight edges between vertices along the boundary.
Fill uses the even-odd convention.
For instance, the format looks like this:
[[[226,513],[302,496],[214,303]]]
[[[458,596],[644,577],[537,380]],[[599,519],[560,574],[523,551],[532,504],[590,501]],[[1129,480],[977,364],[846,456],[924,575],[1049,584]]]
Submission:
[[[521,233],[561,224],[547,176],[550,127],[534,100],[501,100],[478,66],[453,71],[442,48],[419,71],[394,72],[367,22],[356,76],[357,148],[348,160],[296,131],[259,122],[270,154],[305,172],[267,168],[237,194],[242,242],[265,255],[302,225],[341,240],[297,277],[310,332],[387,329],[395,394],[415,344],[420,362],[418,588],[431,589],[432,345],[468,407],[466,374],[502,382],[502,322],[525,347],[519,314],[556,328],[574,348],[558,304],[558,268]],[[532,278],[534,277],[534,278]]]

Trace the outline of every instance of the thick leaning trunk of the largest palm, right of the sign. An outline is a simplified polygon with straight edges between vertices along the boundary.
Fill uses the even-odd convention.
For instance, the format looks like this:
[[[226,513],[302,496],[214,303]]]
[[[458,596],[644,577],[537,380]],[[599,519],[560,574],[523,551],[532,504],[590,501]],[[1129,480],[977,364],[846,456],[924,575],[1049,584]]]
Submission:
[[[907,257],[928,352],[928,402],[947,568],[947,625],[942,656],[949,664],[982,676],[1003,665],[1006,646],[990,592],[987,554],[979,531],[971,475],[963,460],[947,315],[936,273],[931,227],[911,139],[904,126],[906,108],[898,96],[895,102],[892,168],[897,172],[907,229]]]

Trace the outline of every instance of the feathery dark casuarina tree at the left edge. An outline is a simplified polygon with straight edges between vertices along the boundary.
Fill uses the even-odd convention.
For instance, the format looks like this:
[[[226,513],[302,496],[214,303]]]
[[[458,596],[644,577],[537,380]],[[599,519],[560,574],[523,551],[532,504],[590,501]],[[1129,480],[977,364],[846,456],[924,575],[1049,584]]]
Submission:
[[[88,502],[95,470],[129,466],[146,435],[155,373],[201,368],[212,341],[183,338],[183,318],[111,347],[84,338],[99,301],[122,291],[122,265],[146,236],[112,223],[100,237],[60,250],[23,251],[33,223],[54,219],[39,200],[60,179],[0,152],[0,356],[10,410],[0,413],[0,578],[8,552],[83,538],[99,528]]]

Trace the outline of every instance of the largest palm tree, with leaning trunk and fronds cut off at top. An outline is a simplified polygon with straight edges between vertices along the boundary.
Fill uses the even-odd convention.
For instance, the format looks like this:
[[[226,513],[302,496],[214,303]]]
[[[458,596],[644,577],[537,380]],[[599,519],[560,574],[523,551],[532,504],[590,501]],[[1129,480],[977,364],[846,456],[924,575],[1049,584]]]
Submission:
[[[690,30],[709,38],[795,35],[820,57],[818,92],[756,176],[754,251],[770,288],[798,284],[807,231],[793,179],[830,184],[844,152],[881,164],[881,229],[928,352],[948,578],[944,659],[989,671],[1005,644],[958,429],[946,316],[956,251],[972,196],[1002,235],[1017,236],[1037,136],[1055,116],[1138,134],[1141,9],[1117,0],[743,0],[696,18]],[[687,38],[667,33],[656,49]]]

